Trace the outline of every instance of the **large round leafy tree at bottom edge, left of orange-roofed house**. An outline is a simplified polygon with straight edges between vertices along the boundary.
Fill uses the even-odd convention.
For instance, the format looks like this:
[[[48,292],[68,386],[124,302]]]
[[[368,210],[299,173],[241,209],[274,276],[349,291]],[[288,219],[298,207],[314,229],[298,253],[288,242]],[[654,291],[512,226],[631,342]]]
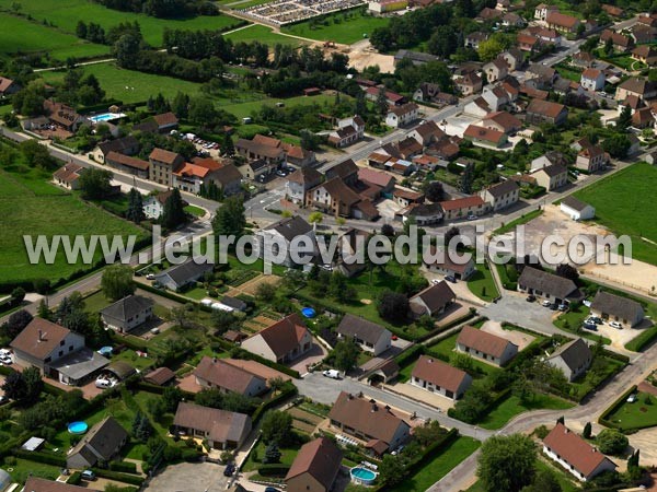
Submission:
[[[516,492],[532,482],[535,462],[537,448],[531,437],[495,435],[482,445],[476,475],[486,491]]]

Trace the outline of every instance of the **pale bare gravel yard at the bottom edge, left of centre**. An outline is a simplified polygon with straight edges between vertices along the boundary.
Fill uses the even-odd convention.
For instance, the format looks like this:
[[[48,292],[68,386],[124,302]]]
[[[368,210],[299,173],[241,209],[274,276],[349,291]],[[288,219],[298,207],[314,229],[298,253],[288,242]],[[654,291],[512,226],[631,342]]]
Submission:
[[[182,462],[166,467],[145,490],[153,492],[223,492],[228,478],[223,467],[212,462]]]

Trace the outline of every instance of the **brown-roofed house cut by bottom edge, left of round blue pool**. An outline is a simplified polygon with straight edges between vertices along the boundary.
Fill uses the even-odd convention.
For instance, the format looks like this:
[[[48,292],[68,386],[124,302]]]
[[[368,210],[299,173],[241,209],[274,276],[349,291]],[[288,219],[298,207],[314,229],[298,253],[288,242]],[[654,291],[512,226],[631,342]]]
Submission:
[[[288,492],[330,492],[342,467],[343,453],[328,437],[306,443],[285,477]]]

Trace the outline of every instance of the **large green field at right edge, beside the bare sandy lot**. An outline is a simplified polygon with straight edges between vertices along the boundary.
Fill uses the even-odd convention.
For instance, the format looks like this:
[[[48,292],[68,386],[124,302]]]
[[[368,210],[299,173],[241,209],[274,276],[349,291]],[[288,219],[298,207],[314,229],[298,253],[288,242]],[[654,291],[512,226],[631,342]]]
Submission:
[[[656,187],[657,167],[638,163],[577,191],[575,197],[596,208],[596,222],[632,238],[634,259],[657,265],[657,222],[653,219],[657,215]]]

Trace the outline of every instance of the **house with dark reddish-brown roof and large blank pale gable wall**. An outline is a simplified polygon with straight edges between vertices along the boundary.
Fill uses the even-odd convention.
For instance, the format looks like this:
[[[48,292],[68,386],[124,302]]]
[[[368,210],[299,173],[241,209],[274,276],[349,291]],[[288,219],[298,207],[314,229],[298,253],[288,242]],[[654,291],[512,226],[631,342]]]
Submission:
[[[312,348],[312,336],[299,315],[291,314],[249,337],[242,348],[268,361],[286,364]]]

